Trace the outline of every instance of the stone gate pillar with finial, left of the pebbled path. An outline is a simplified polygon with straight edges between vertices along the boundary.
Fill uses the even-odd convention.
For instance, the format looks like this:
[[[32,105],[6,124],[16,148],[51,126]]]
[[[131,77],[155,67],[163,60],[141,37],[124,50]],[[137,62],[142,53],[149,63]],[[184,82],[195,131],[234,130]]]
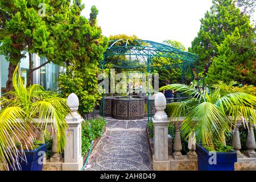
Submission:
[[[83,165],[81,146],[81,123],[84,121],[77,113],[79,98],[72,93],[68,96],[67,105],[71,109],[66,117],[68,130],[66,132],[67,144],[64,149],[63,171],[80,171]]]

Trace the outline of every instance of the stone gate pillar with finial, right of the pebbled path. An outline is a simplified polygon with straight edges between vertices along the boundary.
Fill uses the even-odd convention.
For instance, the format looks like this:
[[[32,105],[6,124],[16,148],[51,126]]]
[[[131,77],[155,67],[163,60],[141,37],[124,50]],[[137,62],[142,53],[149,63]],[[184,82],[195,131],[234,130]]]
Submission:
[[[154,123],[154,155],[153,170],[169,171],[170,160],[168,160],[168,117],[166,109],[166,97],[163,93],[155,96],[156,113],[152,122]]]

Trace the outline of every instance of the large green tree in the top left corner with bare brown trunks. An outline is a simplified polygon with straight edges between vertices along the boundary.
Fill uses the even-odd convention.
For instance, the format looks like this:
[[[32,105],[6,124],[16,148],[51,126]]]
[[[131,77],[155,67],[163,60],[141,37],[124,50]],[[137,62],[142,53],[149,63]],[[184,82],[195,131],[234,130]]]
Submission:
[[[53,27],[61,23],[59,15],[64,14],[68,6],[65,0],[0,1],[0,53],[10,61],[7,90],[13,89],[11,76],[20,59],[26,56],[25,51],[28,52],[29,58],[28,86],[31,85],[32,72],[42,67],[40,65],[34,68],[32,53],[46,56],[48,62],[61,64],[61,60],[52,59],[58,49]]]

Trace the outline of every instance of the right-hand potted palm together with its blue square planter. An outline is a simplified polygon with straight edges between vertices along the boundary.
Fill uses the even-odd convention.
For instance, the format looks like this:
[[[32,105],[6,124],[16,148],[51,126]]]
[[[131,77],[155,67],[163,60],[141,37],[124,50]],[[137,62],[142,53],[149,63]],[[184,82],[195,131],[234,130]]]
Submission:
[[[225,146],[225,136],[238,120],[245,127],[255,125],[256,97],[242,92],[224,93],[220,88],[207,93],[183,84],[167,85],[160,90],[163,89],[190,96],[183,102],[168,104],[166,112],[171,119],[184,117],[181,134],[185,137],[196,133],[199,170],[234,170],[237,154],[232,147]],[[212,163],[211,155],[216,158]]]

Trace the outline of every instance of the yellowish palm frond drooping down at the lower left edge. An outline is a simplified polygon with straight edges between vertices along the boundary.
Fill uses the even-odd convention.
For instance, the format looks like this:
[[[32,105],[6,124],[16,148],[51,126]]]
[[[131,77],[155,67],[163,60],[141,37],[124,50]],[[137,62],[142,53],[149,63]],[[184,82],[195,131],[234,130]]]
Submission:
[[[19,167],[18,158],[22,154],[18,152],[16,143],[28,148],[35,139],[34,130],[20,107],[6,107],[0,111],[0,163],[3,164],[0,170],[8,170],[7,163],[13,168]]]

